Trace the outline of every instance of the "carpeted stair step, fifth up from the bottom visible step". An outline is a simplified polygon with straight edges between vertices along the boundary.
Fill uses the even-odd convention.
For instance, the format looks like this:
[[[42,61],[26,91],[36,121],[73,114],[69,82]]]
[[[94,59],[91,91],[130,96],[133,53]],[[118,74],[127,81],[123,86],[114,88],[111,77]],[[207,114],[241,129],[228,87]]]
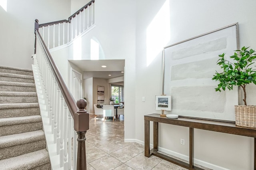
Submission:
[[[36,103],[36,92],[0,91],[0,103]]]

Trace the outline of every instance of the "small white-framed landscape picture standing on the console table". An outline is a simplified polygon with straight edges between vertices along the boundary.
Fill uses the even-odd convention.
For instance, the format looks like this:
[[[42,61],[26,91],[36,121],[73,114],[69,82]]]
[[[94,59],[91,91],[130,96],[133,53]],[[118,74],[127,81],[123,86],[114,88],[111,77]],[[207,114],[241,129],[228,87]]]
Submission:
[[[156,95],[156,110],[171,111],[172,95]]]

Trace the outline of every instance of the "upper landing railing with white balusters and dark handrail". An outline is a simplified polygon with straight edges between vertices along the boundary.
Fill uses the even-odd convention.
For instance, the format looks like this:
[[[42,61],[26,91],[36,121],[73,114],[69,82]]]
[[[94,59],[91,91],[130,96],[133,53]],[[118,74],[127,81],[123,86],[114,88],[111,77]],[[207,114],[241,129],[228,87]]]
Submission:
[[[94,0],[91,0],[71,15],[68,20],[39,24],[39,32],[47,44],[47,48],[51,49],[71,42],[92,28],[94,24]]]

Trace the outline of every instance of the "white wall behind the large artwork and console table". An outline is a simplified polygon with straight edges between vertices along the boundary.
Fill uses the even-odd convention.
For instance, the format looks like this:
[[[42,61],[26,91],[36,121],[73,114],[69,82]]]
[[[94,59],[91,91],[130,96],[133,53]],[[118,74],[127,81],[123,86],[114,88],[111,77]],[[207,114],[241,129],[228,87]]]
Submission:
[[[164,4],[166,6],[162,8]],[[156,44],[153,44],[157,50],[157,43],[163,43],[161,45],[165,47],[238,22],[240,47],[245,45],[256,49],[256,39],[253,38],[256,36],[255,5],[256,1],[253,0],[245,0],[243,3],[239,0],[159,0],[157,3],[153,0],[137,1],[136,140],[144,141],[143,116],[149,113],[160,113],[154,110],[154,98],[156,94],[162,93],[162,55],[161,49],[153,51],[154,56],[147,54],[147,50],[150,51],[147,49],[149,44],[147,40],[150,40],[150,36],[155,35]],[[161,9],[166,8],[169,10],[164,12],[161,18],[167,19],[155,22],[154,18],[161,14]],[[246,9],[247,12],[241,9]],[[170,17],[169,20],[166,16]],[[153,31],[147,36],[147,29],[152,26],[152,23],[157,23],[155,32],[151,29]],[[169,35],[170,39],[166,41]],[[162,38],[162,41],[158,38]],[[147,57],[154,58],[148,66]],[[250,96],[248,103],[255,105],[255,86],[248,88],[248,94]],[[143,96],[146,99],[145,102],[142,102]],[[160,124],[159,130],[160,147],[162,147],[160,149],[167,149],[166,151],[170,153],[187,158],[189,129]],[[185,139],[185,146],[180,145],[180,138]],[[249,137],[195,130],[195,158],[201,160],[199,163],[213,169],[221,169],[220,167],[232,170],[253,169],[253,148],[253,139]]]

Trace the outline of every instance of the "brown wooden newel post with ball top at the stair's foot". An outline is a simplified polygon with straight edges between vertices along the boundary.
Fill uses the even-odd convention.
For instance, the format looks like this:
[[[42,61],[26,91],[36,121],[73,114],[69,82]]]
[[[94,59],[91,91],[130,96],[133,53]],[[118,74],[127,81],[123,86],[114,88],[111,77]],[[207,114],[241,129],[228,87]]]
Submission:
[[[85,134],[89,129],[89,114],[85,110],[87,101],[79,99],[76,102],[78,111],[74,115],[74,129],[78,134],[78,149],[77,149],[77,166],[76,170],[86,170],[86,149],[85,149]]]

